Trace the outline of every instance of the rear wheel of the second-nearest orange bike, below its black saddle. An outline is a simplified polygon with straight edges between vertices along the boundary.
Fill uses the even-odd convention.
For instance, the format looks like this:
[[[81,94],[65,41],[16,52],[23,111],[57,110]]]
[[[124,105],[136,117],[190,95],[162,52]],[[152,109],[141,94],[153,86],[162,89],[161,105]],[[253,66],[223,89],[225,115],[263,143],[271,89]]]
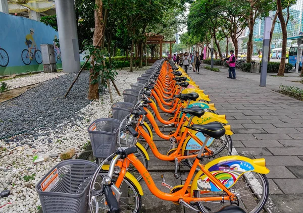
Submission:
[[[231,139],[230,135],[224,135],[222,137],[226,137],[226,138],[224,138],[224,142],[221,143],[222,144],[221,146],[219,146],[220,144],[217,145],[218,143],[220,143],[221,140],[215,139],[214,142],[208,147],[209,149],[211,149],[212,151],[214,151],[215,158],[231,155],[231,152],[232,152],[232,139]],[[224,149],[225,149],[225,151],[222,152]],[[199,150],[197,150],[194,153],[190,153],[190,150],[185,150],[184,151],[184,156],[188,156],[188,155],[192,155],[192,154],[197,154],[198,152],[199,152]],[[195,160],[195,158],[187,158],[187,159],[185,159],[185,162],[186,162],[186,164],[187,164],[187,166],[189,168],[192,167],[194,160]],[[203,164],[206,165],[208,162],[210,162],[212,160],[213,160],[212,158],[210,159],[209,157],[204,157],[203,158]],[[199,171],[200,168],[197,167],[196,170]]]

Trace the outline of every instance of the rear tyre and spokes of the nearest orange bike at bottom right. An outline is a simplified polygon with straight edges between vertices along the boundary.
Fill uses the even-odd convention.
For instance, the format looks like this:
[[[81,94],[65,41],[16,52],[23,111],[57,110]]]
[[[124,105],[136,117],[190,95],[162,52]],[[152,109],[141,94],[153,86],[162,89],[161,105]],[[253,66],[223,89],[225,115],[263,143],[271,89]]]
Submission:
[[[247,211],[246,209],[249,208],[249,203],[257,202],[257,200],[260,197],[259,188],[258,188],[259,194],[258,195],[251,195],[250,197],[247,196],[247,193],[250,192],[250,191],[252,193],[254,193],[255,189],[250,187],[249,185],[247,186],[247,188],[243,189],[247,183],[250,184],[249,183],[250,180],[256,182],[257,178],[255,176],[253,176],[250,180],[248,179],[249,174],[252,174],[252,173],[257,174],[258,177],[260,178],[260,180],[262,182],[262,187],[263,187],[263,189],[262,189],[263,194],[261,196],[261,199],[260,199],[260,202],[258,203],[258,205],[256,205],[251,210]],[[256,187],[255,182],[254,182],[254,184],[251,184],[251,186],[255,185],[255,187]],[[244,187],[240,188],[240,190],[242,190],[242,191],[236,190],[235,189],[236,185],[242,184],[242,183],[245,184]],[[260,186],[258,186],[258,187],[260,187]],[[232,189],[234,189],[234,192],[237,193],[237,197],[240,200],[240,202],[239,202],[240,205],[239,206],[241,208],[243,208],[246,212],[249,212],[249,213],[259,213],[263,209],[263,207],[264,207],[264,205],[265,205],[265,203],[268,199],[269,183],[268,183],[268,179],[267,179],[266,175],[252,171],[252,172],[247,172],[247,173],[244,173],[243,175],[241,175],[239,177],[239,179],[237,180],[237,182],[230,188],[230,191]],[[207,196],[208,193],[205,193],[205,191],[203,191],[203,192],[204,192],[203,197]],[[220,196],[220,195],[218,195],[219,193],[221,193],[222,196],[224,196],[223,194],[225,194],[225,192],[222,192],[222,191],[221,192],[216,192],[216,193],[212,192],[210,197],[211,196]],[[255,193],[257,193],[257,192],[255,192]],[[199,195],[200,195],[199,191],[195,190],[194,191],[194,197],[199,197]],[[241,196],[241,195],[243,195],[243,196]],[[245,201],[245,203],[244,203],[243,199],[241,199],[241,197],[243,197],[247,201]],[[248,201],[248,199],[249,199],[249,201]],[[216,203],[217,203],[217,205],[216,205]],[[196,202],[196,205],[197,205],[198,209],[202,212],[216,212],[219,209],[221,209],[224,205],[229,205],[229,204],[230,204],[230,202],[222,203],[221,200],[220,201],[218,200],[218,202],[215,202],[215,201]],[[214,205],[216,205],[216,206],[214,206]]]

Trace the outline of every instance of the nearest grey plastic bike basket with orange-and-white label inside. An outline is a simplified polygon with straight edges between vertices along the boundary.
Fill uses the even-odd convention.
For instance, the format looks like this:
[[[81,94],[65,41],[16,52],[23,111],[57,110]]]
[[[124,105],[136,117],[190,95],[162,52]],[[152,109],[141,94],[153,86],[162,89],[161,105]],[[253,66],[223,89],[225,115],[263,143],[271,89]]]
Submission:
[[[72,159],[60,162],[36,185],[43,213],[87,212],[89,184],[97,165],[90,161]],[[45,182],[51,179],[53,181]],[[47,186],[42,190],[41,184]],[[45,189],[43,186],[43,189]]]

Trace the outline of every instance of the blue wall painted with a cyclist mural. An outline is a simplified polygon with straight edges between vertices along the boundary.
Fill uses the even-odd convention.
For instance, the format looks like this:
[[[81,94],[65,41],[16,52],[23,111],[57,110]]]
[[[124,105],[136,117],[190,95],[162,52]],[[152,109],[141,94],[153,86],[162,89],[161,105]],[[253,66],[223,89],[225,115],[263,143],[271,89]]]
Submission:
[[[45,24],[0,12],[0,76],[43,70],[40,44],[54,44],[58,32]],[[62,67],[55,46],[57,67]]]

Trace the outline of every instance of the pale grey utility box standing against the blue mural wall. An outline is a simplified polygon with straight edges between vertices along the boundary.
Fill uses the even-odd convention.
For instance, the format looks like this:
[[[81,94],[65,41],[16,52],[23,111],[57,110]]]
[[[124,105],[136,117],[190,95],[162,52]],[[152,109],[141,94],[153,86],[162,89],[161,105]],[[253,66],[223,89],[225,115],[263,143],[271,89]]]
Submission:
[[[41,44],[44,73],[57,72],[54,44]]]

